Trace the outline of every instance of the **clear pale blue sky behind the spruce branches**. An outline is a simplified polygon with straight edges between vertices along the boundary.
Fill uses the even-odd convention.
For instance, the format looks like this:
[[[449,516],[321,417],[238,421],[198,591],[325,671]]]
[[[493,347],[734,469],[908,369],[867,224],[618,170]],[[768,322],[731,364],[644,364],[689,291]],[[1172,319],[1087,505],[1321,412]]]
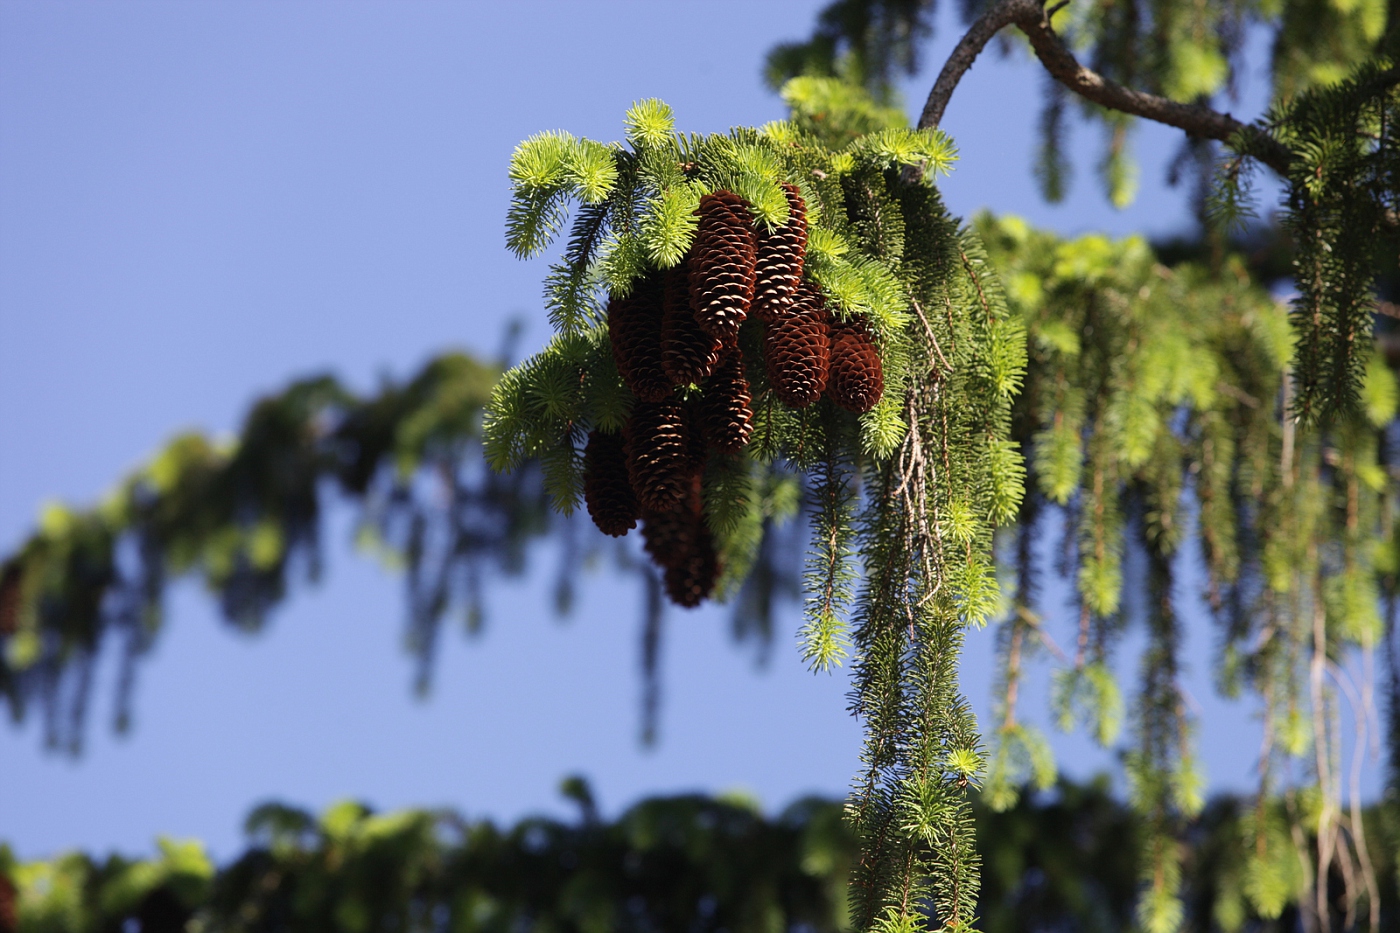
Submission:
[[[368,389],[442,349],[494,352],[512,317],[528,322],[524,349],[540,345],[546,263],[504,248],[515,143],[556,127],[616,139],[641,97],[668,101],[685,130],[778,118],[763,55],[802,38],[819,7],[0,4],[0,551],[41,502],[92,502],[175,430],[230,431],[293,377],[330,370]],[[955,25],[949,10],[909,84],[913,111]],[[1065,233],[1187,226],[1182,192],[1162,184],[1179,146],[1165,129],[1137,134],[1133,207],[1099,192],[1098,132],[1084,127],[1071,198],[1042,203],[1028,171],[1040,83],[1023,57],[991,52],[963,81],[945,120],[962,151],[944,184],[956,212]],[[1236,112],[1254,115],[1249,102]],[[638,594],[595,577],[560,622],[543,553],[540,573],[493,586],[482,637],[445,640],[421,702],[400,650],[402,584],[353,553],[350,518],[332,509],[329,572],[260,637],[175,587],[132,734],[108,728],[111,667],[81,759],[42,751],[34,721],[0,728],[0,839],[34,857],[140,852],[165,832],[228,856],[269,797],[504,820],[564,813],[554,789],[571,772],[608,813],[658,792],[746,789],[770,808],[844,792],[858,747],[846,682],[804,671],[794,618],[759,670],[722,611],[672,611],[662,740],[643,749]],[[991,640],[973,633],[969,647],[983,713]],[[1198,618],[1190,685],[1212,786],[1242,787],[1257,730],[1211,699],[1211,642]],[[1044,678],[1026,696],[1043,720]],[[1081,738],[1056,742],[1071,773],[1113,763]]]

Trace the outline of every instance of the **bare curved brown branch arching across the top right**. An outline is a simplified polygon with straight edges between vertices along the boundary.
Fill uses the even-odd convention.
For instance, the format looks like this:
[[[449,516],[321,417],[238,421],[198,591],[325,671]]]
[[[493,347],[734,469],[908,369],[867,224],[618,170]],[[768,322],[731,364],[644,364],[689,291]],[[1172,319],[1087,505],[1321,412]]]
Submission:
[[[1126,88],[1079,64],[1074,53],[1056,35],[1040,0],[1001,0],[967,29],[958,42],[958,48],[948,56],[944,70],[934,81],[934,90],[928,92],[928,102],[924,104],[924,112],[918,119],[920,127],[938,126],[958,81],[977,60],[977,55],[991,41],[991,36],[1008,25],[1015,25],[1026,34],[1030,46],[1036,50],[1036,57],[1040,59],[1051,77],[1086,101],[1166,123],[1203,139],[1228,141],[1236,133],[1243,133],[1250,141],[1252,156],[1256,156],[1280,175],[1288,172],[1288,163],[1292,158],[1288,148],[1257,126],[1240,123],[1229,113],[1219,113],[1208,106],[1180,104],[1156,94]]]

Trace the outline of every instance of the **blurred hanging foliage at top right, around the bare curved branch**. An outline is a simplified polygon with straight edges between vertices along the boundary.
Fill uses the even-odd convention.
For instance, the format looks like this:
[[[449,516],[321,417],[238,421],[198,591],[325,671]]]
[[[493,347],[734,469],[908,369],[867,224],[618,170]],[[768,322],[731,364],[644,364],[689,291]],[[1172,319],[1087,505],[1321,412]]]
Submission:
[[[972,22],[994,4],[962,0],[958,10],[963,22]],[[1270,97],[1282,104],[1345,78],[1368,59],[1394,56],[1400,36],[1400,22],[1385,0],[1072,0],[1047,6],[1056,7],[1054,29],[1105,78],[1176,101],[1219,101],[1224,109],[1231,109],[1247,77],[1259,73],[1261,63],[1246,56],[1261,38],[1273,39]],[[889,101],[900,78],[939,64],[928,62],[921,48],[934,32],[938,11],[937,0],[833,0],[818,14],[811,38],[784,42],[769,53],[764,77],[778,88],[798,76],[840,76],[864,85],[875,99]],[[1065,156],[1067,94],[1064,85],[1044,83],[1033,174],[1049,200],[1064,196],[1072,171]],[[1091,105],[1079,113],[1103,129],[1096,168],[1106,193],[1120,206],[1133,200],[1135,118]],[[1217,158],[1208,141],[1183,139],[1172,175],[1208,179]]]

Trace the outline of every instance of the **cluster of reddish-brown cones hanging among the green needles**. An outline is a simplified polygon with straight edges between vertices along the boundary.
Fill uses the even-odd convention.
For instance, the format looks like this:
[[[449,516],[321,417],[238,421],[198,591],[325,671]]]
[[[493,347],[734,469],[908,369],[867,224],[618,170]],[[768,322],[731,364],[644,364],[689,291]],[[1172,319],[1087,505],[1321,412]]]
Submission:
[[[690,254],[608,304],[613,359],[637,396],[622,434],[592,431],[584,451],[584,499],[613,537],[637,525],[683,607],[714,590],[720,560],[704,520],[703,472],[710,448],[736,454],[753,433],[739,326],[763,328],[763,366],[774,395],[806,408],[823,392],[868,412],[883,391],[879,353],[860,322],[837,321],[802,279],[806,205],[784,185],[788,221],[757,231],[728,191],[700,200]],[[680,387],[699,385],[683,398]]]

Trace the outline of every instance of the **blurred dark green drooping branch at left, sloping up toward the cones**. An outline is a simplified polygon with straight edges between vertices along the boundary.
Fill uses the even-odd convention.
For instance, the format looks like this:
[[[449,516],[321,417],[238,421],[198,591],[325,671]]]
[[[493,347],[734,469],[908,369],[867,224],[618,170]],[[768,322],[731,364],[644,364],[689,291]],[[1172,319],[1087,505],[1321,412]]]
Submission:
[[[46,510],[4,563],[0,688],[11,713],[39,705],[48,741],[76,749],[90,671],[111,635],[122,644],[125,727],[167,581],[203,580],[232,625],[260,629],[293,576],[318,573],[330,485],[360,503],[365,546],[409,567],[410,647],[426,682],[445,609],[479,612],[480,593],[458,581],[479,580],[486,565],[518,572],[547,527],[536,471],[504,479],[473,468],[496,378],[449,354],[365,399],[329,377],[305,380],[255,405],[235,443],[178,437],[97,509]],[[421,500],[420,476],[441,483],[448,509]]]

